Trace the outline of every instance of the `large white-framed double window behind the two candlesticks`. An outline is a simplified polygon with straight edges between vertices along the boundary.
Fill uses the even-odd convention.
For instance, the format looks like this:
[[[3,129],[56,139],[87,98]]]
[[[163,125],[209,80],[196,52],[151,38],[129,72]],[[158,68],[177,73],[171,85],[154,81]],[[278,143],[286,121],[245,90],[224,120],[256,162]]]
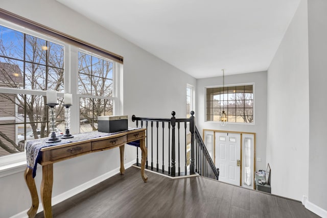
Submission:
[[[41,33],[0,19],[0,157],[24,152],[26,140],[49,136],[46,90],[58,92],[57,134],[64,132],[64,93],[73,94],[74,133],[97,130],[98,116],[119,111],[122,57],[59,33],[50,34],[58,38],[44,35],[48,32],[40,27],[31,29]]]

